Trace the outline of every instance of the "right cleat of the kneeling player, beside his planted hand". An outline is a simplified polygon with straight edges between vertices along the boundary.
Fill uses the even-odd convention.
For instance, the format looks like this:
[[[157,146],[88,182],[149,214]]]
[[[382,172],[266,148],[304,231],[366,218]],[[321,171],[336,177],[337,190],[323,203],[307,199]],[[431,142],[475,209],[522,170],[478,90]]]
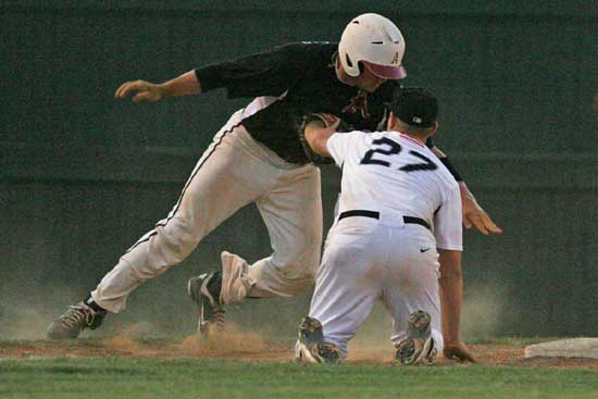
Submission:
[[[403,365],[434,363],[436,349],[429,314],[421,310],[413,312],[407,323],[407,337],[397,345],[397,361]]]

